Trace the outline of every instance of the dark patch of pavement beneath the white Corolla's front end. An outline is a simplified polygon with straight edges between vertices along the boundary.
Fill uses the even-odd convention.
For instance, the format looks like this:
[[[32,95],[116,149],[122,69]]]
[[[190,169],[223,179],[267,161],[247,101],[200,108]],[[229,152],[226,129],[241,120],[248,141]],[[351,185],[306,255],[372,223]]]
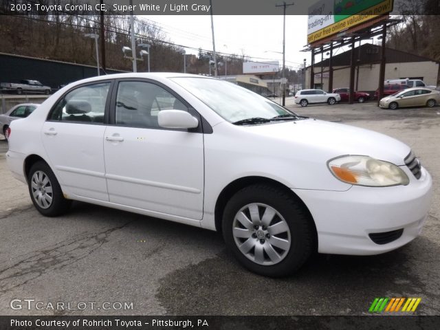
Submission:
[[[157,298],[170,315],[364,315],[375,297],[420,296],[426,308],[419,313],[438,314],[437,295],[428,292],[438,281],[430,265],[439,252],[420,236],[377,256],[316,254],[293,276],[267,278],[223,250],[163,278]]]

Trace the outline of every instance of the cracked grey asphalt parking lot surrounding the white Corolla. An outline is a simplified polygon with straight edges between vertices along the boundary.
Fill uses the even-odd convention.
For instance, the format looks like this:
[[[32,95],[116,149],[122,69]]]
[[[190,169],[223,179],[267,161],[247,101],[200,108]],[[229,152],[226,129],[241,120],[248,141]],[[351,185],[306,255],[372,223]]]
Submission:
[[[379,256],[318,254],[294,276],[265,278],[244,270],[216,232],[79,202],[63,217],[41,216],[0,140],[0,314],[363,315],[375,297],[420,297],[417,314],[440,315],[440,107],[288,107],[408,144],[434,181],[421,236]],[[13,299],[43,308],[12,309]],[[73,308],[44,308],[58,302]]]

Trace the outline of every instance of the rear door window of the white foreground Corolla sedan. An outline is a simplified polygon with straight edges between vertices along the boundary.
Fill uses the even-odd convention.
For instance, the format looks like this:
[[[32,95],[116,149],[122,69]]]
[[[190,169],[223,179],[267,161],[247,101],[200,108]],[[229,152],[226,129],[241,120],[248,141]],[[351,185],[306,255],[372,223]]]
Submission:
[[[69,91],[58,101],[49,120],[102,124],[109,87],[110,83],[100,83]]]

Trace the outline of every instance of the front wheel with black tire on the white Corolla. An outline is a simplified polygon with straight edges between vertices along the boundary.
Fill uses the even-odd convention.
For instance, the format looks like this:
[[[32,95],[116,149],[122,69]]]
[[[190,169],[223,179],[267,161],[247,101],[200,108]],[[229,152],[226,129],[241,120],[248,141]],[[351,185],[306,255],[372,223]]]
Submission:
[[[250,225],[249,229],[245,228],[238,220],[239,217],[236,217],[243,213],[248,214],[248,219],[250,219],[250,212],[245,213],[247,211],[242,210],[255,204],[258,204],[256,208],[258,212],[254,214],[258,213],[259,219],[264,219],[263,214],[267,209],[277,212],[274,217],[269,218],[271,219],[269,225],[267,227],[261,225],[259,230],[256,229],[258,226],[255,227],[254,224],[249,222],[247,222],[247,225]],[[250,211],[250,208],[248,210]],[[278,217],[278,214],[281,217]],[[226,204],[222,220],[223,237],[228,249],[234,253],[236,259],[244,267],[256,274],[270,277],[293,274],[307,261],[315,247],[315,229],[308,212],[292,195],[274,186],[254,184],[239,190]],[[274,225],[279,225],[279,223],[288,230],[276,233],[273,228]],[[272,228],[272,231],[270,231],[270,228]],[[244,233],[246,237],[241,238],[240,235],[236,234],[236,230]],[[267,234],[264,233],[264,230]],[[251,232],[252,236],[249,236]],[[288,248],[278,248],[276,244],[281,240],[289,241]],[[245,250],[244,243],[247,247],[252,246],[246,253],[241,252],[239,248],[240,245],[241,249]],[[260,258],[260,260],[263,260],[261,263],[256,260],[258,259],[256,248],[263,251],[260,252],[263,256],[263,259]],[[274,250],[277,252],[276,255],[273,254]],[[252,253],[254,254],[253,257]],[[272,257],[270,254],[272,254]],[[273,258],[277,255],[278,259]]]

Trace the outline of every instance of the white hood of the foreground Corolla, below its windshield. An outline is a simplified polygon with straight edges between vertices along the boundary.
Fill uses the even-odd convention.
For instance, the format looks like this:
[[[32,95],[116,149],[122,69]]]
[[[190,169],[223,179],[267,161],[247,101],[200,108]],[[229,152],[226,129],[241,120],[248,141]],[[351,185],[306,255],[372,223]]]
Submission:
[[[296,120],[274,124],[243,126],[260,135],[261,146],[273,148],[290,144],[294,153],[312,154],[316,161],[327,162],[340,155],[368,155],[376,159],[404,165],[410,147],[393,137],[355,126],[322,120]],[[271,142],[266,142],[271,141]]]

